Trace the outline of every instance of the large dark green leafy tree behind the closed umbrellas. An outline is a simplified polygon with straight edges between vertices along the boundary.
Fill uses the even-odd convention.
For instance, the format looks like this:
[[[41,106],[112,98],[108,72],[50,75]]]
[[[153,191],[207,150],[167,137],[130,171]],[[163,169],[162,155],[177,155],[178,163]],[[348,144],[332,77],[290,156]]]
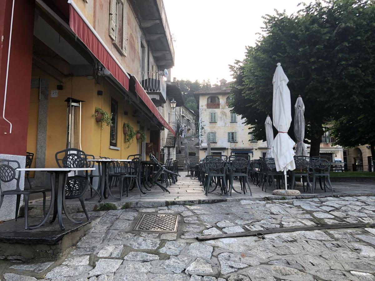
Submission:
[[[337,128],[348,118],[357,118],[354,123],[363,129],[357,130],[361,135],[356,139],[361,143],[366,142],[364,132],[375,128],[374,123],[366,125],[374,118],[364,119],[366,122],[359,118],[362,114],[374,116],[375,5],[373,0],[303,5],[296,14],[276,11],[276,15],[264,16],[265,26],[256,45],[247,47],[245,58],[230,66],[236,80],[231,106],[246,118],[255,138],[266,139],[264,120],[272,114],[272,77],[280,62],[289,78],[292,117],[301,95],[310,155],[319,155],[323,124],[328,121],[337,120],[334,132],[340,144],[346,133],[344,128],[338,134]],[[293,121],[290,128],[294,139]]]

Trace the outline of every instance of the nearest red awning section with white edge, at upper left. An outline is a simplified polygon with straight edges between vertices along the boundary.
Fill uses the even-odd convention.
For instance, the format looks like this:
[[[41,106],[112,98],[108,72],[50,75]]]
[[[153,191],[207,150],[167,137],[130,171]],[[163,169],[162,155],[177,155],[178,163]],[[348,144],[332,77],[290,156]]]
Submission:
[[[78,38],[86,45],[95,57],[108,69],[113,77],[120,82],[126,90],[129,90],[129,75],[113,54],[106,48],[95,30],[85,22],[75,9],[74,3],[69,6],[69,26]]]

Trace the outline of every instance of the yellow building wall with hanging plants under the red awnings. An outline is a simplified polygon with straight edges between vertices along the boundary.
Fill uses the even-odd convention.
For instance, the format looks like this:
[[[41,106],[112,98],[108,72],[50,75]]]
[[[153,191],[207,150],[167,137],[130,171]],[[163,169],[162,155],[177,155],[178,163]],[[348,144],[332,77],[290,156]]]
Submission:
[[[127,148],[128,143],[124,142],[122,126],[123,123],[128,121],[134,130],[138,130],[139,126],[143,126],[147,140],[150,139],[150,131],[147,130],[147,128],[150,128],[150,122],[144,117],[133,117],[134,106],[124,101],[123,95],[110,82],[101,79],[100,84],[95,84],[93,79],[87,79],[87,77],[66,78],[63,83],[63,90],[58,91],[58,97],[51,97],[51,90],[55,90],[60,82],[51,76],[40,74],[32,78],[49,79],[45,167],[56,167],[55,153],[66,148],[67,103],[65,100],[68,97],[85,101],[82,103],[81,109],[81,149],[87,154],[126,159],[128,155],[140,153],[141,141],[137,141],[134,137],[129,148]],[[98,90],[103,91],[102,96],[98,96]],[[92,117],[96,107],[100,107],[110,113],[111,97],[118,102],[117,147],[120,150],[110,149],[110,127],[96,122],[95,117]],[[31,101],[35,102],[34,99]],[[33,103],[31,103],[30,112],[33,111],[33,106]],[[128,114],[124,115],[124,111],[127,111]],[[30,123],[29,126],[28,136],[30,136],[30,139],[28,139],[28,149],[30,148],[30,152],[33,152],[33,149],[36,150],[37,115],[36,117],[31,117],[31,120],[30,122],[33,125]],[[140,121],[140,124],[137,124],[137,120]],[[103,130],[101,129],[102,126]]]

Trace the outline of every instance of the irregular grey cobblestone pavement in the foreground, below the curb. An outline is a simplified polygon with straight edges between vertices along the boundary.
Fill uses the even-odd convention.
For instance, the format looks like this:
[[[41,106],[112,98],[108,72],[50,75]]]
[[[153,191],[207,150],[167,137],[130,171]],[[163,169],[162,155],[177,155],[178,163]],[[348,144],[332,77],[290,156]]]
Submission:
[[[133,231],[147,212],[180,214],[177,233]],[[101,215],[99,222],[65,257],[33,264],[0,261],[0,280],[375,280],[375,228],[196,240],[246,230],[374,223],[374,196],[242,200],[91,214]]]

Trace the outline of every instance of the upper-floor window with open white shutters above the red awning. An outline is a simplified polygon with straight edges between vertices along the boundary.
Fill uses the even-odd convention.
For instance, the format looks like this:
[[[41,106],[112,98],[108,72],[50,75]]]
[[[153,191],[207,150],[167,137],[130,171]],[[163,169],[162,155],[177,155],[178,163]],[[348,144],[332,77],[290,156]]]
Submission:
[[[126,55],[127,49],[127,22],[123,0],[110,2],[110,37],[118,51]]]

